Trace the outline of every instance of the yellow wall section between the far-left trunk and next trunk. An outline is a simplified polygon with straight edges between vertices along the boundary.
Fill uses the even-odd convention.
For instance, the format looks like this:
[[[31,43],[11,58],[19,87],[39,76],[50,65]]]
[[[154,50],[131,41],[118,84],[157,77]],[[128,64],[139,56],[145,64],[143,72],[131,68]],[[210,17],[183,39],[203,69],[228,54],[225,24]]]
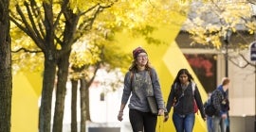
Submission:
[[[11,132],[38,131],[38,99],[41,89],[40,74],[13,75]]]

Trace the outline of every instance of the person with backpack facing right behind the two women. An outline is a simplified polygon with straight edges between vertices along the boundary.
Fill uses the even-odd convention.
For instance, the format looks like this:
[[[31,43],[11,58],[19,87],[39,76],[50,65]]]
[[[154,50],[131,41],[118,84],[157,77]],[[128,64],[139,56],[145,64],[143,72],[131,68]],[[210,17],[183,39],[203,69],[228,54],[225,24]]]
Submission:
[[[212,116],[213,132],[226,132],[227,125],[229,125],[227,124],[229,112],[229,82],[229,78],[224,77],[222,84],[219,85],[211,95],[213,106],[217,110],[216,114]]]

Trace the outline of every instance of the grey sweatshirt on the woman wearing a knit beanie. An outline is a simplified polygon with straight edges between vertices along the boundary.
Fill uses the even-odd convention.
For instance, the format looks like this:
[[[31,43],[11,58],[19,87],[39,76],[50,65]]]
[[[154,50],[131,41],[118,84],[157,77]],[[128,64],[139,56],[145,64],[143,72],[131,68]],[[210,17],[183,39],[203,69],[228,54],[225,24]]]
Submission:
[[[153,89],[151,89],[151,87],[153,87]],[[137,109],[142,112],[149,112],[150,108],[146,97],[155,95],[158,109],[164,109],[159,79],[153,68],[151,69],[151,72],[139,71],[137,73],[128,72],[125,74],[121,103],[126,104],[131,94],[129,108]]]

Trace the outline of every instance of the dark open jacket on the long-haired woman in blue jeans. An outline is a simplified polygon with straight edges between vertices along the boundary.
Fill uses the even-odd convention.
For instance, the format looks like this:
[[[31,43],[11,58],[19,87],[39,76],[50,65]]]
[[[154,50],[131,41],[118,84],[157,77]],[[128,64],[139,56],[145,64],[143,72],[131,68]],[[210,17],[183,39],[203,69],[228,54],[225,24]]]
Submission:
[[[180,115],[186,115],[193,113],[193,98],[196,101],[197,107],[200,110],[201,117],[205,118],[204,106],[202,103],[201,95],[195,85],[195,90],[192,91],[192,82],[189,84],[187,89],[182,91],[181,85],[176,84],[172,85],[170,91],[168,102],[167,102],[167,112],[171,111],[171,108],[174,107],[174,113]]]

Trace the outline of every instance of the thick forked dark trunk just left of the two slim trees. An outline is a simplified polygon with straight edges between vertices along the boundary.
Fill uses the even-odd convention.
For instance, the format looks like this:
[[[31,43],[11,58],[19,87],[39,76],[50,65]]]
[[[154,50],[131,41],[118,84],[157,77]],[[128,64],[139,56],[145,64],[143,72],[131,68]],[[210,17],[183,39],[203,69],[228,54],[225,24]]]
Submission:
[[[68,1],[64,1],[64,5]],[[69,8],[63,8],[65,25],[64,25],[64,40],[60,44],[63,49],[58,59],[58,83],[56,91],[56,102],[54,111],[54,121],[53,121],[53,131],[62,132],[63,131],[63,119],[64,119],[64,97],[66,91],[66,81],[69,68],[69,56],[71,53],[71,45],[74,43],[74,34],[76,32],[76,27],[78,25],[79,15],[73,13]]]

